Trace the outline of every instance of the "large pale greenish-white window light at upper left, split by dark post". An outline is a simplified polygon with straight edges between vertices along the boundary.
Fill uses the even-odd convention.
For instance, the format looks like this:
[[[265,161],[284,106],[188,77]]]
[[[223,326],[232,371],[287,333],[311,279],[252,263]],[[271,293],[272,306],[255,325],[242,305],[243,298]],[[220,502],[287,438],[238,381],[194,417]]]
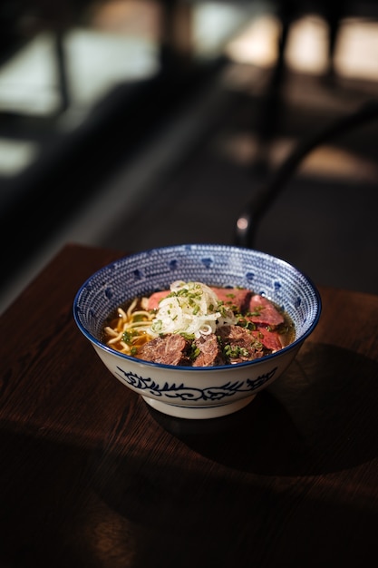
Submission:
[[[0,68],[0,109],[39,116],[61,105],[53,34],[41,33]],[[117,83],[158,71],[156,45],[142,38],[73,29],[64,38],[73,106],[88,108]]]

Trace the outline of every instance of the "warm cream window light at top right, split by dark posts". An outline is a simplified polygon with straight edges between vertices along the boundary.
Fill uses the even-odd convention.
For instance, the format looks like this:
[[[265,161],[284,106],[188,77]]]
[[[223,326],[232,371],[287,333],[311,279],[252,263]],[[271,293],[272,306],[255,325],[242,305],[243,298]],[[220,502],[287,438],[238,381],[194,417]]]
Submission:
[[[276,63],[280,23],[274,15],[258,15],[231,39],[226,54],[240,64],[271,67]],[[288,68],[322,74],[328,68],[328,28],[317,15],[306,15],[291,25],[286,44]],[[345,18],[339,29],[334,69],[340,76],[378,80],[378,23]]]

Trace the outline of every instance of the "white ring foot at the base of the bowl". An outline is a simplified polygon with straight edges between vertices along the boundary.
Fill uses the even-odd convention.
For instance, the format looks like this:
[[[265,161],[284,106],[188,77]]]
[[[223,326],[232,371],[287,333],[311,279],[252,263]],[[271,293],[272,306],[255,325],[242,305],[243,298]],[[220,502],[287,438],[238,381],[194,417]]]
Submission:
[[[143,400],[155,410],[159,410],[163,414],[169,416],[175,416],[176,418],[189,418],[189,419],[206,419],[206,418],[218,418],[219,416],[227,416],[241,410],[247,406],[256,395],[251,397],[243,398],[237,400],[237,402],[231,402],[227,405],[220,406],[176,406],[170,405],[165,402],[160,402],[155,398],[142,397]]]

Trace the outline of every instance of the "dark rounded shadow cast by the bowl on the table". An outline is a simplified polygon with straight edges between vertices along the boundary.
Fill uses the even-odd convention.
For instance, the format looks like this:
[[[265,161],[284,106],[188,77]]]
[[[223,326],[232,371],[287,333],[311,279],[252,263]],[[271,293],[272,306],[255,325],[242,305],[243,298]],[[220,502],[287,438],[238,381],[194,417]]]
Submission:
[[[285,375],[234,415],[192,421],[150,412],[219,464],[260,475],[326,474],[378,455],[375,377],[375,361],[307,343]]]

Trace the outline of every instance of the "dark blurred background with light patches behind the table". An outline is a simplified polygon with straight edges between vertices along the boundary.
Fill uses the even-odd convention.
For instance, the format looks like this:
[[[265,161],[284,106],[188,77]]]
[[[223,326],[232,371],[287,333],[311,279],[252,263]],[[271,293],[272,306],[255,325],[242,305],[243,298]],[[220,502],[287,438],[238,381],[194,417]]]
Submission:
[[[294,144],[378,97],[378,3],[3,0],[3,310],[66,242],[232,244]],[[378,293],[378,118],[323,144],[255,246]]]

